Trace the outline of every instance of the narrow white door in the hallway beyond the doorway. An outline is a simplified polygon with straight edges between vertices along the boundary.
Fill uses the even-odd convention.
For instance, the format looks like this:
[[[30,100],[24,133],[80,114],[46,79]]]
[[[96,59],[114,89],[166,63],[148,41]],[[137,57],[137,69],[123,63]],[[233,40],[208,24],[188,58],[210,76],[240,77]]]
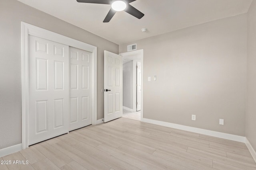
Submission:
[[[136,111],[141,110],[141,63],[137,62],[136,66],[137,70],[137,83],[136,83],[136,89],[137,89],[137,101],[136,101]]]

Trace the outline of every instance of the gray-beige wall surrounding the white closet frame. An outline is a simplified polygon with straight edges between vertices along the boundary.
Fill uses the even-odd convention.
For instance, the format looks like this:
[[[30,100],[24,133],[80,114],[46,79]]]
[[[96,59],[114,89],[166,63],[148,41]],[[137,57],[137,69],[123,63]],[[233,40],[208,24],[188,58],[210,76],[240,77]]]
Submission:
[[[98,47],[97,118],[103,118],[104,50],[118,45],[16,0],[0,0],[0,149],[21,143],[21,21]]]

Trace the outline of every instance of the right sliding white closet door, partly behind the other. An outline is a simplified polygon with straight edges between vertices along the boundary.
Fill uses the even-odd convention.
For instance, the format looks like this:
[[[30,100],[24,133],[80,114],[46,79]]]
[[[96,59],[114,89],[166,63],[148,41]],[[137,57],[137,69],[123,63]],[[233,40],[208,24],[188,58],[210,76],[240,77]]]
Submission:
[[[92,124],[92,53],[70,47],[70,131]]]

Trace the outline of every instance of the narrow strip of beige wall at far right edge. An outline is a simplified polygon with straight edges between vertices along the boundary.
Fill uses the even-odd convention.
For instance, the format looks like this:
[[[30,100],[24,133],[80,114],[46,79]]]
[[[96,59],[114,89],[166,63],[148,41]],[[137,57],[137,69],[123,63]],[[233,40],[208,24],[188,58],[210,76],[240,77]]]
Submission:
[[[256,150],[256,0],[248,11],[246,137]]]

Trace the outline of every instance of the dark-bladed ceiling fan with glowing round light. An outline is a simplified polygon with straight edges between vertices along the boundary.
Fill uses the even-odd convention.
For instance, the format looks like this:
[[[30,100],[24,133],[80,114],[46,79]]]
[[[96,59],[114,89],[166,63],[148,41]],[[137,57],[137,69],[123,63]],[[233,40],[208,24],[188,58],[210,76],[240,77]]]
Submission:
[[[92,4],[109,4],[111,9],[108,12],[103,22],[109,22],[117,11],[125,11],[132,16],[140,19],[144,16],[142,12],[131,6],[129,3],[136,0],[76,0],[77,2],[92,3]]]

